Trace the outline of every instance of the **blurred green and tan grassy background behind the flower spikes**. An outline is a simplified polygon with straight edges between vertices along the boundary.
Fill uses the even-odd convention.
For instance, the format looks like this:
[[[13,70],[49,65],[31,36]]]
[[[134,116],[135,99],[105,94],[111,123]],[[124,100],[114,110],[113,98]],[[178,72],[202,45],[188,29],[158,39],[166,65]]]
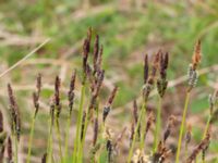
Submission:
[[[118,123],[130,120],[130,103],[140,97],[143,55],[148,53],[152,57],[158,49],[170,53],[168,78],[172,86],[177,86],[169,89],[166,110],[180,114],[185,86],[180,83],[180,77],[186,74],[195,41],[201,39],[203,75],[193,93],[195,100],[192,100],[191,111],[195,113],[192,121],[204,127],[208,93],[218,87],[217,0],[0,0],[0,73],[51,38],[36,54],[0,78],[2,108],[7,106],[4,91],[8,82],[14,85],[17,95],[22,95],[19,100],[24,108],[24,133],[28,131],[35,76],[39,72],[44,75],[46,90],[43,96],[46,100],[43,106],[46,110],[55,76],[61,76],[65,90],[71,71],[80,70],[82,42],[88,27],[93,27],[104,45],[107,89],[102,92],[102,101],[113,85],[120,88],[114,102]],[[150,103],[153,106],[156,101]],[[39,116],[43,125],[46,115],[41,113]],[[195,127],[194,131],[199,133],[201,127]],[[197,135],[195,139],[199,140]],[[44,147],[39,142],[40,139],[36,141],[37,148]],[[218,143],[214,142],[211,149],[216,153]],[[35,152],[41,154],[41,151]]]

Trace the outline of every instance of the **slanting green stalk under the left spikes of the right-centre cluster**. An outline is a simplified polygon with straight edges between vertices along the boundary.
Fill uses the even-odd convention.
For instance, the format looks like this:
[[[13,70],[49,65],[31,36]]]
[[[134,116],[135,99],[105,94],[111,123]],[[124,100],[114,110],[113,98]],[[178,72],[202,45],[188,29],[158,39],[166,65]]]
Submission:
[[[143,114],[145,112],[145,109],[143,109],[143,108],[145,108],[144,104],[143,104],[143,106],[141,109],[140,118],[137,120],[137,124],[136,124],[136,127],[135,127],[135,130],[134,130],[133,141],[131,143],[130,152],[129,152],[129,156],[128,156],[128,163],[131,163],[131,159],[132,159],[132,155],[133,155],[133,149],[134,149],[135,140],[136,140],[136,137],[137,137],[137,130],[138,130],[140,124],[141,124],[142,116],[143,116]]]

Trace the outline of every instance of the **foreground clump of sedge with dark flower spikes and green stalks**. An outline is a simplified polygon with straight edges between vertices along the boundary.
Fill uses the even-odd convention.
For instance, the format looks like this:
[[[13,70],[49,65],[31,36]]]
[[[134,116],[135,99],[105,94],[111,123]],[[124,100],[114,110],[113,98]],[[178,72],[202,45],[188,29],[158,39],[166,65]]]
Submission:
[[[186,162],[192,163],[196,159],[198,159],[199,153],[202,152],[202,161],[205,162],[205,153],[208,150],[209,141],[211,139],[211,125],[215,122],[216,102],[217,102],[217,93],[209,98],[210,104],[210,114],[207,118],[205,131],[203,133],[201,142],[194,148],[192,151],[189,151],[187,148],[191,141],[191,129],[186,129],[185,134],[185,149],[183,156],[181,151],[183,150],[183,135],[186,126],[186,115],[189,103],[191,100],[191,90],[196,85],[197,82],[197,66],[201,61],[201,42],[197,41],[193,54],[193,61],[189,68],[187,82],[189,87],[186,89],[184,109],[182,114],[182,122],[180,125],[179,140],[175,143],[177,155],[173,155],[172,148],[168,143],[169,137],[171,137],[172,130],[175,130],[175,122],[178,122],[177,116],[168,115],[167,127],[165,131],[162,131],[162,126],[165,123],[161,118],[161,112],[164,111],[165,103],[165,93],[168,86],[167,79],[167,68],[169,54],[167,52],[162,52],[159,50],[155,55],[148,58],[146,54],[144,58],[144,74],[143,74],[143,89],[142,89],[142,101],[140,103],[141,109],[137,109],[137,102],[134,101],[133,104],[133,122],[131,125],[131,134],[128,135],[128,129],[124,127],[120,129],[119,133],[113,135],[112,127],[107,122],[109,113],[112,110],[112,103],[114,101],[118,87],[116,86],[108,100],[106,101],[102,110],[101,110],[101,97],[99,96],[101,92],[101,88],[104,87],[104,79],[106,72],[102,70],[102,53],[104,48],[100,46],[99,36],[96,35],[94,48],[92,48],[92,36],[93,29],[89,28],[86,38],[83,43],[83,62],[82,62],[82,77],[81,77],[81,89],[80,98],[78,98],[78,106],[74,106],[75,101],[75,88],[80,85],[76,85],[75,78],[80,74],[76,75],[75,71],[72,73],[72,77],[70,80],[70,87],[68,92],[68,118],[64,121],[61,118],[61,112],[64,105],[62,105],[61,101],[61,80],[59,76],[56,77],[55,80],[55,89],[53,96],[51,97],[50,102],[50,115],[48,121],[48,142],[47,142],[47,151],[43,155],[43,163],[53,163],[61,162],[66,163],[68,160],[70,162],[84,162],[87,156],[92,163],[96,162],[118,162],[117,154],[118,151],[122,149],[122,139],[126,136],[130,136],[130,148],[128,148],[128,156],[126,162],[142,162],[142,163],[164,163],[167,161],[172,161],[173,156],[175,156],[175,163]],[[90,55],[92,54],[92,55]],[[150,62],[152,61],[152,62]],[[92,64],[90,64],[92,62]],[[152,63],[149,65],[149,63]],[[157,89],[158,92],[158,106],[157,110],[149,110],[148,103],[150,98],[150,92]],[[35,135],[35,122],[37,117],[37,113],[39,110],[39,97],[41,91],[41,77],[38,75],[36,91],[33,93],[33,102],[35,112],[33,112],[32,125],[31,125],[31,134],[28,139],[28,154],[26,158],[26,162],[29,163],[32,158],[33,150],[33,139]],[[13,136],[13,142],[11,139],[8,139],[8,159],[15,163],[19,163],[19,140],[21,136],[21,118],[19,106],[12,90],[11,85],[8,85],[9,92],[9,102],[10,102],[10,113],[11,113],[11,130]],[[88,93],[88,96],[86,96]],[[87,98],[89,97],[89,99]],[[76,108],[77,106],[77,108]],[[73,149],[70,148],[70,143],[72,140],[70,139],[72,135],[70,134],[71,129],[71,120],[74,111],[76,111],[76,129],[75,129],[75,138],[73,140]],[[0,116],[1,117],[1,116]],[[1,120],[1,118],[0,118]],[[156,121],[155,121],[156,120]],[[60,121],[64,121],[66,123],[65,127],[62,129],[60,126]],[[74,124],[73,124],[74,125]],[[93,127],[93,133],[88,133],[88,128]],[[152,133],[154,127],[155,133]],[[3,131],[1,129],[1,121],[0,121],[0,133]],[[56,129],[56,130],[53,130]],[[61,129],[61,130],[60,130]],[[64,141],[62,141],[62,130],[65,133]],[[150,130],[150,133],[148,133]],[[55,133],[56,131],[56,133]],[[87,135],[92,134],[93,140],[89,145],[87,140]],[[146,145],[147,135],[154,139],[153,148],[150,145]],[[154,135],[153,135],[154,134]],[[58,147],[59,151],[55,151],[55,141],[53,138],[58,138]],[[4,140],[3,140],[4,141]],[[62,142],[64,142],[64,153],[62,151]],[[13,149],[12,149],[13,145]],[[84,149],[84,147],[87,147]],[[89,151],[89,153],[86,153]],[[147,153],[149,151],[149,153]],[[69,152],[72,152],[72,155],[69,156]],[[4,154],[3,154],[4,155]],[[12,156],[15,158],[12,158]],[[58,158],[58,160],[56,160]],[[183,158],[183,159],[182,159]],[[1,159],[1,158],[0,158]]]

